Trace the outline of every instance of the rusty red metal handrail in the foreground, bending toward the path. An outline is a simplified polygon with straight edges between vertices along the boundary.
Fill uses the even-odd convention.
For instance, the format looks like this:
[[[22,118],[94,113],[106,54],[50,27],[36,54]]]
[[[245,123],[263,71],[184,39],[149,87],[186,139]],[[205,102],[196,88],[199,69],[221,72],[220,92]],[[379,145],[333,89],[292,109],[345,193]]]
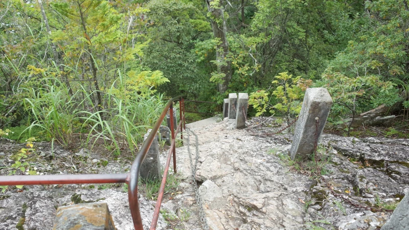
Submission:
[[[173,102],[179,99],[179,110],[180,110],[180,122],[177,126],[176,131],[173,126]],[[137,230],[143,230],[141,213],[139,211],[138,203],[138,177],[140,167],[146,157],[146,154],[152,145],[156,133],[159,130],[163,120],[165,119],[166,113],[170,112],[170,130],[172,134],[172,142],[168,154],[168,159],[165,167],[165,172],[162,177],[161,188],[159,190],[158,198],[156,201],[155,211],[153,214],[153,219],[150,229],[156,228],[157,219],[159,216],[159,211],[161,208],[162,197],[164,193],[164,187],[166,183],[166,178],[170,165],[170,158],[173,153],[173,171],[176,173],[176,148],[175,139],[178,131],[181,129],[183,124],[186,129],[185,121],[185,103],[183,97],[177,96],[168,101],[163,109],[160,117],[157,119],[156,123],[152,127],[147,139],[142,144],[139,149],[137,157],[132,163],[131,169],[127,174],[65,174],[65,175],[13,175],[13,176],[0,176],[0,186],[12,186],[12,185],[55,185],[55,184],[81,184],[81,183],[127,183],[128,184],[128,199],[129,199],[129,209],[131,211],[131,216],[133,220],[133,225]],[[183,139],[183,136],[181,135]]]

